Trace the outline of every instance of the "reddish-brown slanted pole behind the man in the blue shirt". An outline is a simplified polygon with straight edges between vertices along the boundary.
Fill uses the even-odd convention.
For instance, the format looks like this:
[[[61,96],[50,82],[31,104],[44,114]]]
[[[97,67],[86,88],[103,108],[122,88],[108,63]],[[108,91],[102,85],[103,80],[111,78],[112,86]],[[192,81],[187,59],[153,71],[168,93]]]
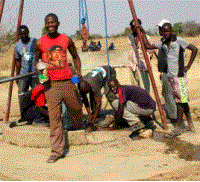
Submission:
[[[15,42],[19,40],[19,27],[22,22],[22,13],[23,13],[23,7],[24,7],[24,0],[21,0],[20,6],[19,6],[19,16],[18,16],[18,23],[17,23],[17,32],[16,32],[16,37],[15,37]],[[14,76],[15,73],[15,55],[13,55],[13,62],[12,62],[12,68],[11,68],[11,77]],[[10,105],[11,105],[11,97],[12,97],[12,89],[13,89],[13,81],[10,82],[9,85],[9,92],[8,92],[8,103],[7,103],[7,110],[6,110],[6,117],[5,121],[7,122],[9,120],[9,115],[10,115]]]

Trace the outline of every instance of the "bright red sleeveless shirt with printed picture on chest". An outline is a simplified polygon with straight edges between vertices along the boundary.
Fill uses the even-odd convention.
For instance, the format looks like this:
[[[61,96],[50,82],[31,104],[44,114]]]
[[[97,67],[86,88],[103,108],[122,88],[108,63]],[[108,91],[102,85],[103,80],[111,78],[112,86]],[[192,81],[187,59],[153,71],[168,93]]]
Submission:
[[[47,65],[50,80],[66,80],[73,76],[67,64],[67,48],[68,38],[64,34],[59,34],[56,38],[51,38],[48,34],[41,37],[42,61]]]

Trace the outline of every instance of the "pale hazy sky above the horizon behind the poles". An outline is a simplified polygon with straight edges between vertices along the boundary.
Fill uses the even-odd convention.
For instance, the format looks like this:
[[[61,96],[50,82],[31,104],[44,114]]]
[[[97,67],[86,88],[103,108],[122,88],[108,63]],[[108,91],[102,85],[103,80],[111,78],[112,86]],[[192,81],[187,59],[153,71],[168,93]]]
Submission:
[[[128,0],[86,0],[90,34],[105,36],[105,20],[108,35],[118,34],[129,27],[132,14]],[[6,0],[1,22],[1,32],[17,26],[20,0]],[[153,29],[162,20],[172,24],[194,20],[200,23],[200,0],[133,0],[137,17],[145,30]],[[29,27],[30,36],[40,38],[44,18],[48,13],[58,15],[59,32],[73,35],[79,30],[79,0],[25,0],[22,24]]]

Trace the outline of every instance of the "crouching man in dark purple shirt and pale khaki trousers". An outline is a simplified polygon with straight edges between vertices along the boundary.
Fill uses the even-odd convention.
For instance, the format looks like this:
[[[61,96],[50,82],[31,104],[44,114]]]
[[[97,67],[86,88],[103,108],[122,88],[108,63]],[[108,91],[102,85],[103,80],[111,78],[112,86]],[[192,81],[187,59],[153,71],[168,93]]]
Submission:
[[[125,119],[132,132],[143,128],[155,129],[150,115],[156,110],[156,102],[146,90],[134,85],[120,85],[116,78],[108,84],[110,90],[119,98],[112,102],[116,113],[110,124],[114,123],[114,128]]]

